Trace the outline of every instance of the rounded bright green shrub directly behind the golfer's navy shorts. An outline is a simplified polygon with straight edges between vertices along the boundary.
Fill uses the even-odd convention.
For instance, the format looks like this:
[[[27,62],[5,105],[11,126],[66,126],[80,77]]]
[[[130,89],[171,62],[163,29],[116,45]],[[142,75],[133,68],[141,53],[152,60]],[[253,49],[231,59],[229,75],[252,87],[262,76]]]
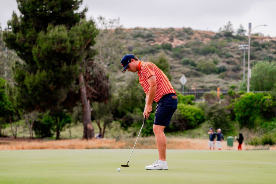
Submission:
[[[205,120],[204,112],[194,105],[178,104],[173,115],[172,128],[186,130],[195,128]]]

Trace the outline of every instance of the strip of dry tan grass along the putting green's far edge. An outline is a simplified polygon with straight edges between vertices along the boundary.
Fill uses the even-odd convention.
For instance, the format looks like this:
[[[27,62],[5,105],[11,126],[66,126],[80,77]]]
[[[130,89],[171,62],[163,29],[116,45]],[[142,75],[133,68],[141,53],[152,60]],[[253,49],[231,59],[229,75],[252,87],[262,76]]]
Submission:
[[[30,139],[0,139],[0,150],[22,149],[124,149],[133,148],[136,138],[116,141],[115,139],[93,140],[30,140]],[[223,150],[237,150],[238,143],[234,147],[227,147],[226,141],[221,143]],[[139,138],[136,147],[138,149],[156,149],[155,138]],[[243,150],[276,150],[276,146],[242,146]],[[190,138],[167,138],[167,149],[192,149],[208,150],[207,140]]]

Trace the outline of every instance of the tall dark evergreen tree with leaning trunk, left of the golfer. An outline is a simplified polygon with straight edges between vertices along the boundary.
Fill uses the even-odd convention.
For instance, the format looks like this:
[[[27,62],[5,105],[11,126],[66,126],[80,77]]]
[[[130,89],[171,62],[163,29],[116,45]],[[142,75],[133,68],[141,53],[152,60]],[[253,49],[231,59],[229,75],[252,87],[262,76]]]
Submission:
[[[59,139],[63,128],[60,114],[81,99],[83,137],[92,138],[88,82],[83,76],[93,65],[95,52],[91,46],[98,34],[94,21],[84,19],[86,8],[79,11],[82,0],[17,0],[17,3],[21,15],[13,12],[4,41],[24,61],[14,67],[20,107],[26,112],[50,110]]]

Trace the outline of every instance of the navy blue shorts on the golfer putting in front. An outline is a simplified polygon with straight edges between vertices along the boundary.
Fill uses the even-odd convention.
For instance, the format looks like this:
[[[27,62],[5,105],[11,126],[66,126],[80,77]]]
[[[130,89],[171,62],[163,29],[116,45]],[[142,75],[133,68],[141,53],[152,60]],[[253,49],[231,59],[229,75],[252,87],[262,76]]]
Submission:
[[[171,117],[177,108],[177,96],[173,93],[165,94],[157,102],[154,125],[169,126]]]

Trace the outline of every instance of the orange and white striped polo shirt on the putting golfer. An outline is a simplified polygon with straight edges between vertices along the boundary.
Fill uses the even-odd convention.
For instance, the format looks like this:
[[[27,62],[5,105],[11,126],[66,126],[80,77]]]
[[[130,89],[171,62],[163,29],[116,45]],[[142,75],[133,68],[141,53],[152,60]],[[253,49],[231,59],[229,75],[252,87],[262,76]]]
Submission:
[[[145,93],[149,91],[149,83],[148,78],[151,75],[155,75],[156,78],[156,94],[154,97],[154,101],[158,102],[163,95],[176,92],[174,88],[171,86],[171,82],[167,78],[167,76],[160,70],[155,64],[151,62],[139,62],[139,71],[137,72],[139,76],[139,83],[143,87]]]

